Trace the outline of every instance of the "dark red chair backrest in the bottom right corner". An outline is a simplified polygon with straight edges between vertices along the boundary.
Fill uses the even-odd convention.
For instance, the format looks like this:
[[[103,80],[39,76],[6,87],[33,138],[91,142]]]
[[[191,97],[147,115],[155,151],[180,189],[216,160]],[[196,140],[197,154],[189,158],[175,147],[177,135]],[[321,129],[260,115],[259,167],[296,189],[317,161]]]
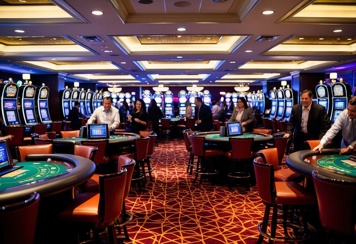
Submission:
[[[356,183],[330,179],[315,170],[313,182],[323,227],[355,236]]]

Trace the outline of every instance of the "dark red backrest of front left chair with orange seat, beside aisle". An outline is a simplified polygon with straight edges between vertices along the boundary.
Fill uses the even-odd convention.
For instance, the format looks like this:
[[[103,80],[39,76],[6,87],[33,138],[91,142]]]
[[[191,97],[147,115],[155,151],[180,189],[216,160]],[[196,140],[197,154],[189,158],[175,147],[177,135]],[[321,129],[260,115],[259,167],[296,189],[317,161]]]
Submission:
[[[108,223],[118,218],[122,211],[127,170],[117,173],[99,175],[99,219]],[[98,209],[98,210],[99,210]]]

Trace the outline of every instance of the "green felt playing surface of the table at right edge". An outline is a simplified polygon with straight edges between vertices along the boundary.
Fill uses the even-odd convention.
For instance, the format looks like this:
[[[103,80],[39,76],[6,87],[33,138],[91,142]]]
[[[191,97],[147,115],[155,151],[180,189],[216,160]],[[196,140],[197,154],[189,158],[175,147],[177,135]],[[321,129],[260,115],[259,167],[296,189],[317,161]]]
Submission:
[[[356,162],[350,160],[348,155],[330,155],[318,160],[324,168],[356,176]]]

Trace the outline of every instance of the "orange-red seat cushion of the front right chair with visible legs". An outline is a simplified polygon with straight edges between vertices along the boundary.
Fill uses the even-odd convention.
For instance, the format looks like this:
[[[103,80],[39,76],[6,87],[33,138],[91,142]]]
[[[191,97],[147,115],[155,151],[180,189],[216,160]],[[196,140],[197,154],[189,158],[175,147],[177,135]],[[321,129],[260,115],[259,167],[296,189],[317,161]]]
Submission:
[[[281,205],[307,205],[314,203],[314,196],[297,182],[275,182],[275,204]]]

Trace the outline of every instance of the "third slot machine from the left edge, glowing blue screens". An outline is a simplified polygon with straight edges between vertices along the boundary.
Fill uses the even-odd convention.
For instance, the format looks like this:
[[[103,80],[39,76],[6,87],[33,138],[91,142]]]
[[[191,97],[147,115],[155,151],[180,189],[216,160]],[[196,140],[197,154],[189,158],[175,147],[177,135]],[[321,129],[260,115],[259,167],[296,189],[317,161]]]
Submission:
[[[49,96],[49,89],[45,84],[36,88],[36,104],[35,110],[37,115],[37,121],[40,123],[48,123],[47,128],[52,123],[51,117],[49,116],[49,109],[48,109],[48,96]]]

